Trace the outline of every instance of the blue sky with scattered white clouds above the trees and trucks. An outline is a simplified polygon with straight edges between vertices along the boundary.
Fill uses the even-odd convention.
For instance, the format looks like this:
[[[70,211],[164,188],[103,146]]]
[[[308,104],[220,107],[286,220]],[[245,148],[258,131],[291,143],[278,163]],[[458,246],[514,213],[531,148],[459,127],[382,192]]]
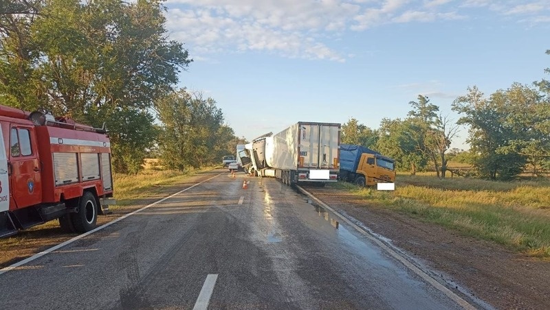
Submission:
[[[550,67],[550,0],[168,0],[193,58],[181,87],[216,100],[249,141],[297,121],[371,128],[427,95],[456,121],[467,86],[489,95]],[[462,128],[452,147],[467,149]]]

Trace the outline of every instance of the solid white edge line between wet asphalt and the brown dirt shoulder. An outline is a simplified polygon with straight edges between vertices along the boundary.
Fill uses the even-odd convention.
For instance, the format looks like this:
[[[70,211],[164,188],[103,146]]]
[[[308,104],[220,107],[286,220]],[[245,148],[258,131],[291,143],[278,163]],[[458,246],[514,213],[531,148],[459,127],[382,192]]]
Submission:
[[[464,300],[463,298],[461,298],[460,296],[454,294],[453,291],[451,291],[450,289],[448,289],[447,287],[445,287],[444,285],[442,285],[441,283],[437,282],[434,280],[434,278],[432,278],[431,276],[429,276],[428,274],[426,274],[426,272],[423,272],[419,267],[413,265],[412,263],[410,263],[410,261],[407,261],[407,259],[405,259],[405,257],[401,256],[400,254],[398,254],[397,252],[395,252],[392,248],[388,247],[386,245],[386,243],[380,241],[380,239],[377,239],[376,237],[374,237],[373,235],[369,234],[369,232],[367,232],[366,230],[364,230],[363,228],[361,228],[360,226],[356,225],[355,223],[351,222],[349,219],[347,219],[347,217],[344,217],[344,215],[341,215],[340,213],[336,212],[333,208],[331,208],[330,206],[328,206],[327,204],[325,204],[325,202],[322,202],[321,200],[319,200],[318,198],[316,198],[314,195],[312,195],[311,193],[309,193],[308,191],[306,191],[305,189],[303,189],[302,187],[300,186],[296,186],[298,189],[300,189],[300,191],[302,191],[303,193],[305,193],[306,195],[309,196],[309,198],[315,200],[318,204],[320,204],[321,206],[323,206],[324,208],[327,208],[327,210],[331,211],[332,213],[334,213],[336,216],[340,217],[340,219],[342,219],[342,221],[346,222],[347,224],[349,224],[349,226],[352,226],[353,228],[355,228],[355,230],[357,230],[358,232],[360,232],[362,235],[364,235],[365,237],[371,239],[371,241],[373,241],[374,243],[376,243],[378,246],[380,246],[380,248],[383,248],[384,250],[386,250],[386,252],[388,252],[388,254],[390,254],[392,257],[394,257],[395,259],[397,259],[397,261],[400,261],[401,263],[403,263],[403,265],[405,265],[406,267],[408,267],[408,269],[412,270],[412,272],[415,272],[415,274],[417,274],[418,276],[420,276],[421,278],[424,279],[424,281],[430,283],[433,287],[435,287],[436,289],[439,289],[439,291],[441,291],[443,294],[445,294],[446,296],[448,296],[448,298],[454,300],[454,302],[456,302],[457,304],[461,305],[464,309],[476,309],[476,307],[470,305],[469,302],[467,302],[466,300]]]

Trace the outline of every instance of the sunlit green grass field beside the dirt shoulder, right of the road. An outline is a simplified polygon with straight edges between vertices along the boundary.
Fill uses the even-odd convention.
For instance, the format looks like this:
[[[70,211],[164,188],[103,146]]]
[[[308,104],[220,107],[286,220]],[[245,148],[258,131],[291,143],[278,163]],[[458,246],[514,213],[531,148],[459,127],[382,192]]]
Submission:
[[[398,175],[395,191],[336,187],[369,205],[550,259],[550,182],[493,182]]]

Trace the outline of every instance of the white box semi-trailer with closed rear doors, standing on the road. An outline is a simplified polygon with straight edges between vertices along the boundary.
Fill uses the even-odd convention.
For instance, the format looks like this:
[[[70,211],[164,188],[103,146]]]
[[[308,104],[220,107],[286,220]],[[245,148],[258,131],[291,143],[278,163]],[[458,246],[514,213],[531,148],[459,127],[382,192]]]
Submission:
[[[263,149],[258,146],[256,154]],[[340,171],[339,148],[340,123],[300,121],[265,138],[265,168],[259,171],[262,176],[275,176],[288,185],[336,182]]]

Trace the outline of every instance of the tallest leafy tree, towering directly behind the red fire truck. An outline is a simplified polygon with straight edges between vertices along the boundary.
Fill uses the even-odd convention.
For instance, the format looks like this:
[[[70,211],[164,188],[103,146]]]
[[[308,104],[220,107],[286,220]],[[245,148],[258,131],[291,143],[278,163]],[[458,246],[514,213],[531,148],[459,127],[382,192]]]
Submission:
[[[43,106],[96,127],[107,121],[113,161],[121,163],[115,171],[128,172],[155,137],[113,129],[147,121],[142,134],[155,134],[153,102],[192,61],[168,40],[162,9],[158,0],[50,0],[38,15],[10,15],[17,27],[0,36],[0,96],[10,106]]]

